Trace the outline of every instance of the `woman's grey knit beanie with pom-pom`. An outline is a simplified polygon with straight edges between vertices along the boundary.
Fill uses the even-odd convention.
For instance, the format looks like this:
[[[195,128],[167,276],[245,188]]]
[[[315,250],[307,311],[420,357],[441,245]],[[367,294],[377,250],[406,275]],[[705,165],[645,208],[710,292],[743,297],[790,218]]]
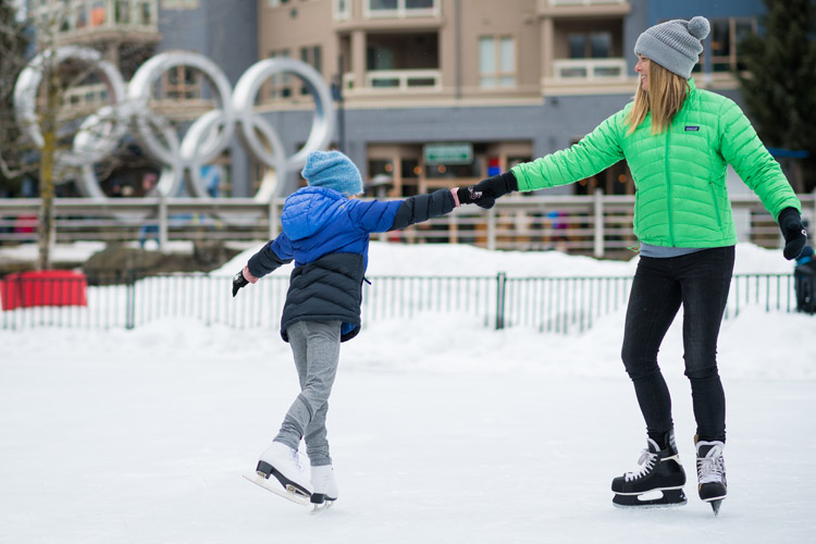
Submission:
[[[688,79],[703,52],[701,41],[708,36],[709,30],[708,20],[701,16],[691,21],[667,21],[641,34],[634,44],[634,53]]]

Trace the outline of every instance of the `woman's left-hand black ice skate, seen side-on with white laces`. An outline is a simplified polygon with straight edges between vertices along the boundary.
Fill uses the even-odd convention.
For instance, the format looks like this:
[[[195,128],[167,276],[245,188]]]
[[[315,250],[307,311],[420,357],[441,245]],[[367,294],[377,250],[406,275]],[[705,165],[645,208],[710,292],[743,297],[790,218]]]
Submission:
[[[669,446],[660,449],[655,441],[647,440],[641,452],[638,470],[613,480],[613,504],[619,508],[657,508],[685,504],[683,485],[685,471],[675,445],[673,432]]]

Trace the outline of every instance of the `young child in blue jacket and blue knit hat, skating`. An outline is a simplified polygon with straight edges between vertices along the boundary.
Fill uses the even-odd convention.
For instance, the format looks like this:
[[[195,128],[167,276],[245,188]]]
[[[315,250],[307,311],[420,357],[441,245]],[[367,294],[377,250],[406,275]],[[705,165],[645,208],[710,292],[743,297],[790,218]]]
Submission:
[[[292,346],[300,394],[256,470],[265,479],[273,475],[283,490],[310,497],[319,507],[337,499],[325,418],[341,342],[360,332],[369,235],[444,215],[461,203],[490,208],[494,199],[471,186],[405,200],[356,200],[353,197],[362,193],[360,172],[339,151],[310,153],[301,174],[309,186],[286,199],[281,214],[283,233],[235,275],[233,296],[294,259],[281,336]],[[311,473],[299,460],[304,437]]]

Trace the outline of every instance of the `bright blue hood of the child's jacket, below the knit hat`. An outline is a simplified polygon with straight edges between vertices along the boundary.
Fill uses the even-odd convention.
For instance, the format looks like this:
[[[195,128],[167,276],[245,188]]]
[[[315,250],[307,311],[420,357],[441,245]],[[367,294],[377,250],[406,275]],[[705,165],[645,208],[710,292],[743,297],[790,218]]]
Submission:
[[[313,235],[348,205],[348,199],[326,187],[302,187],[286,198],[281,214],[283,231],[289,239]]]

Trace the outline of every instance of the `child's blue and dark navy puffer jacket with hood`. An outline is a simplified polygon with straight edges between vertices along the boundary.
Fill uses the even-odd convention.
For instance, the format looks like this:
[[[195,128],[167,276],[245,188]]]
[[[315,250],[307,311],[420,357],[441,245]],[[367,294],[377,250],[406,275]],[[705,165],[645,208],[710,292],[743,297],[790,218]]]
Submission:
[[[325,187],[304,187],[286,199],[283,233],[249,259],[262,277],[295,261],[281,318],[281,336],[297,321],[342,321],[341,339],[360,332],[362,281],[369,236],[449,213],[448,189],[405,200],[354,200]]]

